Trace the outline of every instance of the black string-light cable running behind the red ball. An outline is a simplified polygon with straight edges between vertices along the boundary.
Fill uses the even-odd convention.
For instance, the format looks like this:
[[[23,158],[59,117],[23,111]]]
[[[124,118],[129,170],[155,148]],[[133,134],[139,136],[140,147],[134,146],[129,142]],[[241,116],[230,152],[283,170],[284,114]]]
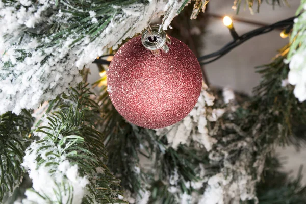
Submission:
[[[205,65],[205,64],[212,63],[212,62],[218,60],[219,58],[223,57],[224,55],[229,53],[232,49],[241,45],[245,41],[247,41],[247,40],[249,40],[249,39],[251,39],[255,36],[262,35],[262,34],[270,32],[270,31],[273,31],[274,29],[286,28],[286,32],[289,33],[289,31],[293,27],[293,23],[294,23],[293,20],[295,18],[296,18],[296,16],[285,19],[285,20],[282,20],[282,21],[278,21],[278,22],[276,22],[274,24],[271,24],[271,25],[266,25],[266,26],[254,29],[252,31],[249,31],[249,32],[239,36],[239,38],[233,39],[231,42],[227,43],[225,46],[223,46],[218,51],[199,57],[198,61],[199,61],[200,65]],[[110,55],[100,56],[99,59],[95,59],[93,61],[93,63],[109,65],[111,63],[110,61],[100,59],[100,58],[107,57],[107,56],[114,56],[114,55],[110,54]]]

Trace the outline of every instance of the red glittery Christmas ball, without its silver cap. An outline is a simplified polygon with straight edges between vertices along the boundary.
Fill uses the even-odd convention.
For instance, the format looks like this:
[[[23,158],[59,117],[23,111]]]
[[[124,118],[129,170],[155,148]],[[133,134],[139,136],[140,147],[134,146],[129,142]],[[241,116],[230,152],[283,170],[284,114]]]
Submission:
[[[169,38],[169,37],[167,37]],[[179,122],[201,92],[200,65],[183,42],[170,37],[168,53],[154,55],[141,37],[125,43],[108,72],[108,92],[116,110],[133,124],[158,129]]]

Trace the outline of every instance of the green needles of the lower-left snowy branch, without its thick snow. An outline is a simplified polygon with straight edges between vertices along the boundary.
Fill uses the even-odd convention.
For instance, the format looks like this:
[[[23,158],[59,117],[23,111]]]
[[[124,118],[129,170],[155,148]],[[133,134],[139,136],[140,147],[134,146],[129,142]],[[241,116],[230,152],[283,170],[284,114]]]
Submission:
[[[84,197],[83,203],[124,202],[118,199],[121,191],[112,189],[119,187],[119,180],[115,179],[103,162],[107,159],[107,152],[103,135],[95,129],[95,119],[99,117],[97,104],[90,99],[92,93],[83,83],[71,92],[69,97],[62,95],[51,103],[53,107],[49,108],[50,113],[45,117],[48,125],[40,126],[35,131],[45,137],[33,143],[27,154],[37,151],[34,152],[37,168],[47,167],[50,176],[57,176],[58,166],[63,161],[68,160],[72,166],[78,165],[78,174],[86,176],[90,182],[87,185],[89,194]],[[37,144],[37,150],[31,149]],[[97,168],[101,169],[100,172],[97,172]],[[69,180],[64,177],[62,183],[56,185],[58,188],[54,189],[54,195],[57,195],[58,203],[62,203],[63,193],[69,195],[68,201],[72,202],[75,192]],[[52,201],[48,192],[35,189],[32,192],[39,194],[45,201]]]

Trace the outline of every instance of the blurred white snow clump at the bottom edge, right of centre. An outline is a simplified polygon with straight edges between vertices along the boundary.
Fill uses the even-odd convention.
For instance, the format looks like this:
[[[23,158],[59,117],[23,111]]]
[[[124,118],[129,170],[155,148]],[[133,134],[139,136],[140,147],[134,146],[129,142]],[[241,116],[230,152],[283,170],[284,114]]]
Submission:
[[[255,203],[258,203],[256,184],[260,180],[265,160],[261,158],[253,164],[253,169],[258,170],[254,176],[249,166],[251,152],[247,152],[247,150],[242,152],[234,164],[227,161],[225,157],[224,167],[221,168],[220,173],[209,178],[205,192],[198,203],[227,204],[239,203],[241,200],[255,200]],[[226,152],[224,153],[226,155]],[[216,158],[211,157],[210,159],[213,161]]]

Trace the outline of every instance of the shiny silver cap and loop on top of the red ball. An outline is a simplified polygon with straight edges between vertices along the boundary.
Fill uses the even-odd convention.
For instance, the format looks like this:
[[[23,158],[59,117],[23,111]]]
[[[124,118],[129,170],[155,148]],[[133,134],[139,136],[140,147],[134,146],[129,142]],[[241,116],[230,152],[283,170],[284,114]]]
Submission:
[[[149,28],[143,32],[141,42],[145,48],[151,51],[152,54],[159,56],[160,49],[164,53],[169,52],[169,46],[167,43],[171,44],[171,39],[167,36],[165,31],[159,31],[158,26],[149,26]]]

